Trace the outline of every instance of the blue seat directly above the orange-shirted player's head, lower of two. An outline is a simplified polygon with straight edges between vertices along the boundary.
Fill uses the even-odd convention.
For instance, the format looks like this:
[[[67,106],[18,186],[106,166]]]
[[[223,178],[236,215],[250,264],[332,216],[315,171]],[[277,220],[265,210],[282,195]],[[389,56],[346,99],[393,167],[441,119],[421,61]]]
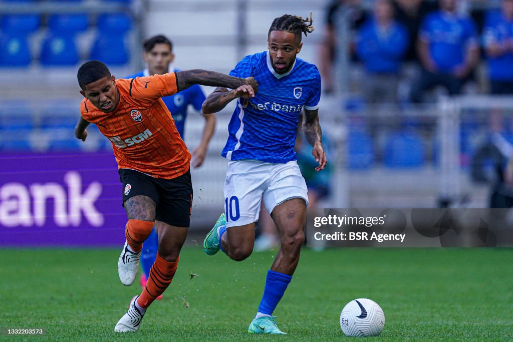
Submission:
[[[107,65],[123,65],[129,61],[130,56],[122,37],[99,33],[93,44],[90,59],[102,61]]]

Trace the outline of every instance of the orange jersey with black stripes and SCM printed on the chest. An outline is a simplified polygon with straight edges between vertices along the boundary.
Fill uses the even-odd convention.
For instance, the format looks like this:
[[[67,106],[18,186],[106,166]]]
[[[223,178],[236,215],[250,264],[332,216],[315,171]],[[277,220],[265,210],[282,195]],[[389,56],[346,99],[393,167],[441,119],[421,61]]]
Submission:
[[[86,98],[81,115],[108,137],[120,169],[172,179],[189,170],[191,154],[161,97],[177,92],[176,75],[116,79],[120,102],[111,113]]]

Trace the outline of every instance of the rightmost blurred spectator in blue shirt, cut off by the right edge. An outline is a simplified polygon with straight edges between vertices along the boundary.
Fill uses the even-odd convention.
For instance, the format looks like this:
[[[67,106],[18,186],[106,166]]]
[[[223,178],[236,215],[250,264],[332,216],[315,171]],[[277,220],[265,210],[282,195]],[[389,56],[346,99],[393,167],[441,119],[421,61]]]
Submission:
[[[484,48],[492,94],[513,93],[513,0],[502,0],[501,11],[486,16]]]

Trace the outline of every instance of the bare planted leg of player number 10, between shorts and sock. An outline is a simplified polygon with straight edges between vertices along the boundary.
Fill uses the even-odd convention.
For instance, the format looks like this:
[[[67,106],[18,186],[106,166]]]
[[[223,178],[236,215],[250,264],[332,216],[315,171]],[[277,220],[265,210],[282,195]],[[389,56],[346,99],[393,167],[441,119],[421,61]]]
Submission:
[[[274,207],[271,217],[280,234],[281,247],[271,271],[292,275],[298,266],[299,253],[305,241],[306,203],[292,198]]]

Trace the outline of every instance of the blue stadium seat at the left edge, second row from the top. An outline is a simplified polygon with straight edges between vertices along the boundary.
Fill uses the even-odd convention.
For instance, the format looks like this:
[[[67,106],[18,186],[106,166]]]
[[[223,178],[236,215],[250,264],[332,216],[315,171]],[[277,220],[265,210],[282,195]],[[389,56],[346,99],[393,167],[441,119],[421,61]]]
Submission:
[[[24,35],[0,35],[0,66],[25,67],[32,61],[29,43]]]

